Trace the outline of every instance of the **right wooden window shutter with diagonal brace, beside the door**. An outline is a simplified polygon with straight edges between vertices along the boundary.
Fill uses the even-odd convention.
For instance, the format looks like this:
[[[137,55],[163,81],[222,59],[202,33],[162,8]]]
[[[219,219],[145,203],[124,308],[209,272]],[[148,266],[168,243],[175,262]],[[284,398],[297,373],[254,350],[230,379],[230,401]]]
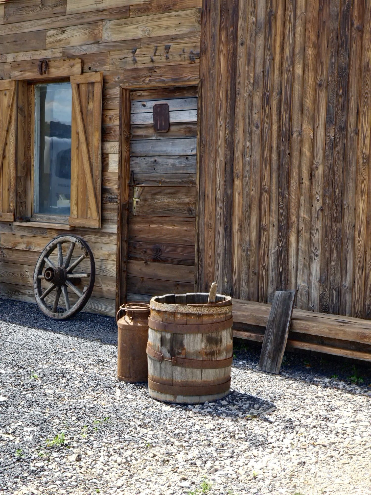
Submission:
[[[75,227],[100,227],[103,73],[71,76],[71,214]]]

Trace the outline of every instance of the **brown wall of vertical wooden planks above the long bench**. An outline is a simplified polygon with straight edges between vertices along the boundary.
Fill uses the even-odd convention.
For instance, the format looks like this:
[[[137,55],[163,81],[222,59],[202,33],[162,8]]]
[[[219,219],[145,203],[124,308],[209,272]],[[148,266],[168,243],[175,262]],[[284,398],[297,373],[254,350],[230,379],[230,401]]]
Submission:
[[[200,76],[198,288],[370,318],[371,3],[204,0]]]

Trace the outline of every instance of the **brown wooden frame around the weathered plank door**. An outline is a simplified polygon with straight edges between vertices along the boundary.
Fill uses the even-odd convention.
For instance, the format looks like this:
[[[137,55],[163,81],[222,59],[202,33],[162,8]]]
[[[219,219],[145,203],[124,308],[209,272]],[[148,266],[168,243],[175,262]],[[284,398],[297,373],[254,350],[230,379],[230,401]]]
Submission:
[[[195,225],[195,288],[198,273],[198,197],[200,168],[200,122],[201,80],[163,81],[140,85],[120,84],[119,102],[119,166],[118,166],[118,215],[116,251],[116,312],[120,304],[127,302],[127,265],[129,241],[129,188],[130,188],[130,106],[131,92],[138,90],[161,90],[166,88],[189,88],[197,86],[197,149],[196,149],[196,225]]]

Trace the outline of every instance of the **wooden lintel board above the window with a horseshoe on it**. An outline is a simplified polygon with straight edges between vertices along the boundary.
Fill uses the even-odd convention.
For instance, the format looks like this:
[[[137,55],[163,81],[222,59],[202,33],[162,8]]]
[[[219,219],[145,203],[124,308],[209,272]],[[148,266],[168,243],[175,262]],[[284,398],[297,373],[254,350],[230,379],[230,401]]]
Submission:
[[[63,77],[78,76],[82,71],[81,58],[46,59],[40,70],[40,60],[23,60],[10,64],[10,79],[60,79]],[[45,72],[46,67],[46,72]],[[42,72],[40,74],[40,72]]]

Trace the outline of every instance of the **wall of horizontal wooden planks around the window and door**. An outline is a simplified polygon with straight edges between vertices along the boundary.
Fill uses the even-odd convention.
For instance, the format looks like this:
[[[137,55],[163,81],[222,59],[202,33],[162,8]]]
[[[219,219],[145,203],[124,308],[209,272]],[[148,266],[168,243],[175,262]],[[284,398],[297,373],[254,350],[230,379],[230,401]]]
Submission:
[[[102,228],[75,229],[93,250],[96,281],[85,310],[114,315],[120,84],[199,77],[201,0],[10,0],[0,5],[0,78],[41,58],[103,71]],[[0,222],[0,297],[34,302],[46,244],[65,231]]]

